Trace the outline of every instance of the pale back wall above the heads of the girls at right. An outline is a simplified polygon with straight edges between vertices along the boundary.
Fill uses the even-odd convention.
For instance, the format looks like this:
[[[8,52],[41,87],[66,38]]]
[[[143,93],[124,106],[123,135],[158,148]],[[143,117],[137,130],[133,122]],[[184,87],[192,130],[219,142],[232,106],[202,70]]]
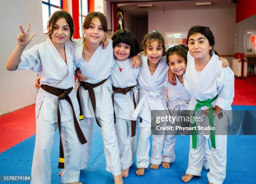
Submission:
[[[194,25],[208,26],[215,36],[215,49],[220,55],[234,54],[235,9],[149,11],[148,31],[185,31]],[[227,57],[229,63],[232,58]]]

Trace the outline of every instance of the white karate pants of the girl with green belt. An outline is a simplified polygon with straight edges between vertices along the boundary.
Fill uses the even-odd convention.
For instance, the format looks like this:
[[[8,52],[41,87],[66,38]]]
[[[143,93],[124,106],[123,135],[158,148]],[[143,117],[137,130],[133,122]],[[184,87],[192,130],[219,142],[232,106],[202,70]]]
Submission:
[[[192,136],[190,136],[189,163],[186,174],[201,176],[205,144],[208,144],[207,138],[197,135],[197,148],[192,148]],[[215,135],[215,144],[216,149],[211,148],[210,171],[207,177],[211,183],[222,184],[226,177],[227,135]]]

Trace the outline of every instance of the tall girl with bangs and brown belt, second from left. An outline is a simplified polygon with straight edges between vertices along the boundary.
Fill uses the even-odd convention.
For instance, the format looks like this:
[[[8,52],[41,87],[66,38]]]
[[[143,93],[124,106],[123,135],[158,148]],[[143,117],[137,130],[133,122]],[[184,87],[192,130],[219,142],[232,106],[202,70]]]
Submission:
[[[118,140],[114,127],[112,105],[112,84],[108,77],[115,64],[112,40],[106,49],[100,46],[108,31],[105,15],[90,12],[83,23],[84,40],[74,40],[73,53],[77,68],[88,78],[85,82],[76,82],[77,97],[80,101],[80,125],[88,143],[82,146],[81,169],[87,167],[92,143],[93,118],[96,119],[102,133],[106,170],[114,176],[115,184],[122,184]]]

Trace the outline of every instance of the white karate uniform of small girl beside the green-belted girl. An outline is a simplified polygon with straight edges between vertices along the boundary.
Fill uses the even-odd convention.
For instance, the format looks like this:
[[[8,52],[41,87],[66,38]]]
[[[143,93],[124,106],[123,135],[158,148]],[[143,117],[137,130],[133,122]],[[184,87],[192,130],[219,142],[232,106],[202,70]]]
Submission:
[[[168,101],[167,107],[170,111],[170,115],[175,116],[179,115],[179,112],[182,110],[187,110],[188,103],[190,101],[191,95],[184,87],[177,75],[176,75],[177,85],[172,85],[168,82],[167,84],[167,92],[168,92]],[[176,135],[165,135],[164,138],[164,147],[162,154],[163,162],[174,162],[176,155],[174,153],[176,144]],[[209,169],[210,167],[210,150],[209,145],[205,143],[205,156],[204,156],[203,166],[205,169]]]

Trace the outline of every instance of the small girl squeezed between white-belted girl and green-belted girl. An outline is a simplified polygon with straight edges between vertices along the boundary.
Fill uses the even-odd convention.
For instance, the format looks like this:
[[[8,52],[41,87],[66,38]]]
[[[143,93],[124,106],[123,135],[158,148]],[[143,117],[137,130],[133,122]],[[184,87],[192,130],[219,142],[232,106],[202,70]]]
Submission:
[[[184,87],[183,74],[187,67],[187,49],[184,45],[173,46],[167,50],[166,61],[169,65],[170,71],[175,74],[177,85],[172,85],[168,82],[167,92],[168,101],[167,107],[170,111],[170,115],[176,116],[187,110],[188,103],[190,101],[190,94]],[[176,135],[172,131],[172,135],[165,135],[164,147],[162,154],[162,167],[170,168],[170,163],[174,162],[176,156],[174,153]],[[205,144],[205,156],[204,163],[205,169],[209,169],[210,166],[210,150],[208,144]]]

